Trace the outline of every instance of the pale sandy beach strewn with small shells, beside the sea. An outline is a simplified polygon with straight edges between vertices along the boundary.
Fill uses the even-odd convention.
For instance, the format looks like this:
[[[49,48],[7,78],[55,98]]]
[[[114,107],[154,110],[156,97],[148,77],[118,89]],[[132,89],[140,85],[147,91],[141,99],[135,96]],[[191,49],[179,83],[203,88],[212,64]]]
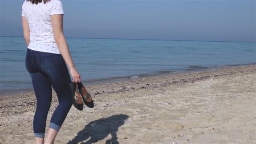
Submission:
[[[87,87],[55,144],[255,144],[256,65]],[[53,102],[47,127],[58,102]],[[0,97],[0,144],[32,144],[33,93]]]

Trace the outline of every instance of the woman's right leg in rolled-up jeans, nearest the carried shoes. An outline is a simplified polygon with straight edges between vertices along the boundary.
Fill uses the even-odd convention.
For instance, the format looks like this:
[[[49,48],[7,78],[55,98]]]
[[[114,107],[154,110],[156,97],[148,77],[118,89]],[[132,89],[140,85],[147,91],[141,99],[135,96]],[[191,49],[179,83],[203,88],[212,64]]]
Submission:
[[[72,91],[69,87],[71,80],[66,63],[61,55],[54,54],[53,67],[45,69],[44,71],[59,100],[59,105],[56,107],[51,117],[50,128],[45,140],[45,144],[53,144],[53,141],[72,106]]]

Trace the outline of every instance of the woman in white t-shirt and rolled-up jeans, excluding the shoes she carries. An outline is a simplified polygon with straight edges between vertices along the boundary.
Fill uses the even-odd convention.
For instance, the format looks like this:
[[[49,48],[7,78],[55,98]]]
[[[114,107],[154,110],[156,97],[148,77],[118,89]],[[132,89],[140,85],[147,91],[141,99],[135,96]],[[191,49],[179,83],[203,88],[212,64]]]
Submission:
[[[72,106],[69,72],[74,83],[81,81],[63,34],[63,14],[59,0],[25,0],[22,5],[22,25],[27,43],[26,68],[37,99],[33,123],[36,144],[53,144]],[[59,105],[51,117],[44,142],[51,86],[58,96]]]

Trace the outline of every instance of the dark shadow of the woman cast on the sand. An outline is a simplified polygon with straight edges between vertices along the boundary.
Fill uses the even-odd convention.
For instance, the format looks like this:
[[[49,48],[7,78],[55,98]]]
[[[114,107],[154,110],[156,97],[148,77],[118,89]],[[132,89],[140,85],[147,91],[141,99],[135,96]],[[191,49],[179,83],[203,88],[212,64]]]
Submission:
[[[110,117],[101,118],[85,125],[85,128],[77,133],[77,136],[67,144],[92,144],[99,140],[105,139],[109,133],[112,138],[106,141],[106,144],[119,144],[117,141],[118,128],[125,123],[128,115],[112,115]],[[89,139],[91,137],[91,139]],[[88,139],[88,140],[87,140]]]

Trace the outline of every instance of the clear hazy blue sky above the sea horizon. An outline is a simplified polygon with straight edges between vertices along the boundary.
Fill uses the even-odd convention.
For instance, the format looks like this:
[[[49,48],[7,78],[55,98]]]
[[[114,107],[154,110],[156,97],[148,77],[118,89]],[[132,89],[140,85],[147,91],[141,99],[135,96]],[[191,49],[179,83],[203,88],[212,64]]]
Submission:
[[[22,36],[23,0],[0,0],[0,35]],[[62,0],[66,37],[256,41],[255,0]]]

